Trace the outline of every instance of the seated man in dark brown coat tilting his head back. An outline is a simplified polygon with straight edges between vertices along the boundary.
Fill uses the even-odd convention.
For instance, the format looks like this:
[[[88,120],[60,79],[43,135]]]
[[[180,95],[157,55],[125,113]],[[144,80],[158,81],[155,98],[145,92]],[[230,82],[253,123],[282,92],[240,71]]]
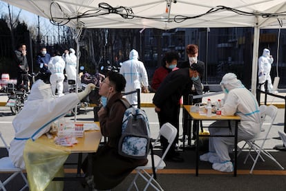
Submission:
[[[93,168],[88,169],[88,159],[84,161],[82,169],[86,173],[91,170],[92,176],[86,177],[86,183],[90,188],[108,190],[121,183],[135,167],[145,165],[147,159],[134,159],[121,156],[118,153],[119,140],[122,134],[122,120],[126,107],[120,101],[122,91],[126,85],[124,76],[110,72],[101,82],[99,95],[106,98],[102,101],[103,107],[99,109],[99,123],[103,136],[107,143],[99,147],[93,154]]]

